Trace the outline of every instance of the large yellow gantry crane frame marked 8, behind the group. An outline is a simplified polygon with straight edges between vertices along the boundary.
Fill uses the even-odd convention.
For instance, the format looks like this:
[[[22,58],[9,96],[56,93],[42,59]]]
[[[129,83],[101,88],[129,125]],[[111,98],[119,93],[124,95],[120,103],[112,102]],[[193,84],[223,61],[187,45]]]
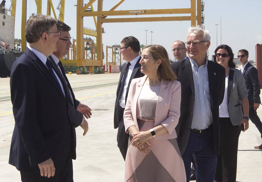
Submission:
[[[87,8],[97,1],[97,11],[86,11]],[[120,0],[109,11],[103,11],[103,0],[89,0],[84,6],[83,0],[77,0],[77,40],[83,39],[83,17],[96,16],[97,17],[97,60],[89,60],[83,63],[83,66],[89,66],[91,61],[95,66],[102,66],[102,24],[113,22],[156,22],[156,21],[191,21],[191,26],[196,26],[196,21],[199,26],[203,22],[202,2],[201,0],[191,0],[190,8],[180,9],[149,9],[149,10],[115,10],[125,0]],[[190,16],[174,16],[174,17],[136,17],[136,18],[107,18],[108,16],[122,16],[122,15],[160,15],[160,14],[190,14]],[[83,61],[83,41],[77,42],[77,60]]]

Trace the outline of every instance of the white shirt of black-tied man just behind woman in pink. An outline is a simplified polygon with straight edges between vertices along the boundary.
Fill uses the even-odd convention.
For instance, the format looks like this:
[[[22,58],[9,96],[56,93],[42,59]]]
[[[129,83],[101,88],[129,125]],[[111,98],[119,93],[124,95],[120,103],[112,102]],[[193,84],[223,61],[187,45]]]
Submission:
[[[132,61],[130,61],[130,65],[128,67],[128,73],[125,77],[125,82],[124,82],[124,87],[123,87],[123,92],[122,92],[122,95],[121,95],[121,98],[119,99],[119,105],[122,107],[122,108],[125,108],[125,95],[126,95],[126,91],[127,91],[127,87],[128,87],[128,83],[129,83],[129,80],[130,80],[130,77],[131,77],[131,74],[133,72],[133,69],[134,69],[134,66],[136,65],[138,59],[140,58],[140,54],[138,54],[138,56],[133,59]],[[123,78],[122,78],[123,79]],[[121,81],[122,82],[122,81]]]

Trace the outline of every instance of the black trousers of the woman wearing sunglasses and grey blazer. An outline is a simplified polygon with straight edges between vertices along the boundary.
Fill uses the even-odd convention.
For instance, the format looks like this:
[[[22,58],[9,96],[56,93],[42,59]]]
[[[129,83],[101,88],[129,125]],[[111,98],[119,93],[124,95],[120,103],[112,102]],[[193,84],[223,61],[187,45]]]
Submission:
[[[217,158],[216,181],[236,182],[239,125],[233,126],[230,118],[219,118],[221,128],[220,154]]]

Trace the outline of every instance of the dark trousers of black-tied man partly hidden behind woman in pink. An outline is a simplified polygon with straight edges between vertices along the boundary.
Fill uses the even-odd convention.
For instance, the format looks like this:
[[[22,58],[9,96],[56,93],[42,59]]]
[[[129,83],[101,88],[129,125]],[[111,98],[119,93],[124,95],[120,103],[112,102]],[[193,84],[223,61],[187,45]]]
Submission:
[[[118,105],[118,114],[119,114],[119,125],[118,125],[118,132],[117,132],[117,146],[125,160],[125,156],[127,153],[127,148],[128,148],[128,139],[129,139],[129,134],[125,132],[125,126],[124,126],[124,119],[123,119],[123,114],[124,114],[124,108],[122,108],[120,105]],[[120,112],[121,111],[121,112]]]

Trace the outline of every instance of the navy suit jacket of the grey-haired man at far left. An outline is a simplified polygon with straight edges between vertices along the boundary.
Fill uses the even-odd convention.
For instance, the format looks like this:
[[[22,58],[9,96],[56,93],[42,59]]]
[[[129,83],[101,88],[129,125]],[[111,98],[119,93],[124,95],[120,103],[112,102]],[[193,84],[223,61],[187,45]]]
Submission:
[[[59,83],[29,48],[12,66],[10,90],[15,128],[9,164],[20,171],[39,172],[38,164],[49,158],[56,169],[64,166],[69,155],[75,159],[75,126],[67,93],[63,95]]]

